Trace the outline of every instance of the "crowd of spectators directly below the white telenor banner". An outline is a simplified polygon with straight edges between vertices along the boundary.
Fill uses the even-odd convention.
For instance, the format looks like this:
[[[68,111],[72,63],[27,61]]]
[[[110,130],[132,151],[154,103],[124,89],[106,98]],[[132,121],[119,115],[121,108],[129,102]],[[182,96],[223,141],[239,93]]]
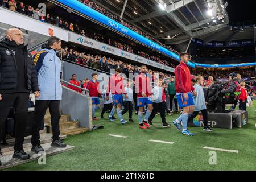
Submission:
[[[67,59],[69,61],[73,61],[74,63],[82,64],[87,67],[91,67],[108,73],[110,73],[110,69],[122,68],[123,73],[127,76],[127,78],[129,77],[129,73],[139,73],[139,67],[137,65],[129,64],[125,61],[114,60],[110,57],[102,55],[92,55],[90,53],[77,51],[68,47],[62,49],[62,51],[59,53],[59,56],[61,56],[61,54],[63,59]],[[151,75],[158,73],[159,78],[167,78],[171,76],[150,69],[148,70],[148,73]]]

